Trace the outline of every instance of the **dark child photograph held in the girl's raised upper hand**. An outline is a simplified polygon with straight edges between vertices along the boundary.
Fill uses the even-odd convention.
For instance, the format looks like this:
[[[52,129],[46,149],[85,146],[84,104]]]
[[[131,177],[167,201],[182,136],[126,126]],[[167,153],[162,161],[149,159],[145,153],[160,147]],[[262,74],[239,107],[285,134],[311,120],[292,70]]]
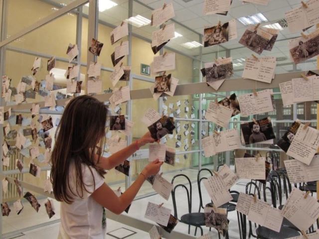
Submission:
[[[160,140],[166,134],[171,133],[174,128],[174,123],[167,116],[163,116],[161,119],[148,127],[152,137],[155,140]]]

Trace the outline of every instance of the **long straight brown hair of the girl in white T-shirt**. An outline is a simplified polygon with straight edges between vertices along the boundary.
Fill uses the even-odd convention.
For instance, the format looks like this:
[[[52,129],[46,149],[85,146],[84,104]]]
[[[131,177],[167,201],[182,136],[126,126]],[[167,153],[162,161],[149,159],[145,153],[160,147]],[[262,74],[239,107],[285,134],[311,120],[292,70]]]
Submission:
[[[83,190],[87,191],[86,186],[91,185],[83,183],[82,164],[91,166],[104,177],[104,170],[98,166],[103,150],[96,150],[96,147],[105,143],[107,117],[107,106],[91,96],[76,97],[66,106],[55,132],[51,155],[50,177],[57,201],[70,204],[75,195],[83,198]],[[98,157],[95,157],[96,151]],[[76,193],[69,184],[71,163],[75,166]],[[92,170],[91,173],[93,176]],[[73,195],[69,195],[67,189]]]

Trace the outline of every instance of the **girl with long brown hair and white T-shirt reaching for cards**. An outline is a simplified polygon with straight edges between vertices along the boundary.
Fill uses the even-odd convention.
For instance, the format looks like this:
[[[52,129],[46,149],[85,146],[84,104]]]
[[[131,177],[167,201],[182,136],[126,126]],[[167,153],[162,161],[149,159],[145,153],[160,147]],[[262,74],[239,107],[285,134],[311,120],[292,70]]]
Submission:
[[[120,197],[104,182],[110,170],[129,158],[141,146],[154,142],[150,132],[105,158],[108,109],[91,96],[79,96],[66,106],[55,133],[51,156],[51,182],[57,201],[61,202],[59,238],[102,239],[104,208],[121,214],[134,200],[146,178],[160,171],[159,160],[147,165],[135,182]]]

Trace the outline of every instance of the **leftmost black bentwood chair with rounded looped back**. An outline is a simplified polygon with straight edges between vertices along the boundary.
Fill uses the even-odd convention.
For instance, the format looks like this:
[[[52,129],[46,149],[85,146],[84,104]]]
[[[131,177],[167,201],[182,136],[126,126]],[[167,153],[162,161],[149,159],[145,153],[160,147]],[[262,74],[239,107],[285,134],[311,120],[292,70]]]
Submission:
[[[182,215],[180,219],[178,219],[181,223],[187,224],[188,225],[188,234],[190,234],[190,226],[196,227],[195,230],[195,235],[196,236],[196,231],[197,228],[200,229],[201,236],[203,236],[203,229],[201,226],[205,226],[205,216],[204,213],[192,213],[191,212],[191,206],[192,206],[192,190],[191,190],[191,182],[189,178],[184,175],[184,174],[177,174],[176,176],[173,177],[171,180],[171,184],[174,184],[174,180],[177,177],[184,177],[188,183],[189,183],[189,191],[188,188],[183,185],[183,184],[178,184],[176,185],[173,190],[171,191],[171,197],[173,201],[173,207],[174,207],[174,217],[178,219],[177,217],[177,205],[176,205],[176,197],[175,197],[175,192],[177,188],[184,188],[186,193],[187,193],[187,204],[188,204],[188,213]]]

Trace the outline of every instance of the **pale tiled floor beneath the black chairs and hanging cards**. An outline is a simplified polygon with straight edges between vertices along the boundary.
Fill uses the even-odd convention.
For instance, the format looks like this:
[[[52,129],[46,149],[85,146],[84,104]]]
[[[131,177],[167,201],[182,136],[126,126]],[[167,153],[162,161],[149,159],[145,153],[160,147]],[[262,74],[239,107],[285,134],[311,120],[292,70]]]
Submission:
[[[179,172],[174,172],[172,174],[164,174],[163,177],[167,179],[168,181],[171,181],[171,178],[178,174]],[[186,174],[189,176],[192,181],[195,181],[197,179],[197,171],[196,170],[184,170],[182,173]],[[239,180],[237,184],[235,184],[231,190],[235,190],[238,192],[245,192],[245,183],[247,183],[249,180]],[[183,183],[182,180],[176,180],[176,183]],[[240,183],[240,184],[238,184]],[[121,185],[123,186],[123,185]],[[198,188],[197,188],[197,183],[192,183],[192,212],[198,212],[199,208],[199,196],[198,196]],[[117,188],[118,185],[112,185],[112,188]],[[206,203],[210,202],[209,195],[207,194],[204,186],[202,185],[202,198],[203,198],[203,204],[205,205]],[[146,182],[145,185],[142,188],[143,191],[140,192],[140,194],[145,194],[149,192],[153,192],[152,186]],[[270,194],[269,191],[267,191],[267,201],[270,202]],[[284,195],[283,195],[284,197]],[[314,195],[316,197],[316,195]],[[178,212],[178,217],[180,215],[187,213],[187,197],[184,191],[181,189],[176,191],[176,199],[177,199],[177,212]],[[39,203],[41,204],[40,210],[38,213],[34,211],[34,209],[27,203],[24,204],[23,211],[21,212],[20,215],[16,215],[14,212],[13,206],[11,206],[11,213],[9,217],[2,217],[2,234],[6,234],[9,232],[14,232],[16,230],[22,230],[27,227],[35,226],[38,224],[43,224],[46,222],[54,221],[56,219],[60,218],[60,208],[59,208],[59,203],[55,202],[55,215],[49,219],[46,212],[45,212],[45,207],[44,203],[46,200],[39,200]],[[136,200],[133,202],[133,205],[130,208],[129,211],[129,216],[143,220],[143,221],[148,221],[150,223],[153,223],[150,220],[147,220],[144,218],[144,214],[146,211],[146,207],[148,202],[153,202],[153,203],[164,203],[164,207],[170,208],[173,210],[173,205],[172,205],[172,200],[171,197],[169,198],[168,201],[163,199],[160,195],[154,195],[150,196],[147,198],[143,198],[140,200]],[[285,201],[283,202],[285,203]],[[203,212],[203,210],[201,211]],[[173,213],[173,212],[172,212]],[[238,223],[237,223],[237,214],[236,211],[230,212],[228,214],[228,219],[230,220],[229,222],[229,236],[230,239],[239,239],[239,229],[238,229]],[[116,221],[111,221],[108,220],[107,222],[107,232],[114,231],[119,228],[127,228],[132,231],[136,231],[137,234],[130,236],[129,239],[149,239],[149,234],[131,227],[128,227],[126,225],[121,224],[121,216],[118,217],[118,220]],[[209,229],[204,227],[204,234],[208,233]],[[30,231],[23,232],[24,236],[19,237],[18,239],[56,239],[58,235],[58,230],[59,230],[59,223],[54,223],[49,226],[41,227],[39,229],[34,229]],[[174,229],[175,231],[186,233],[188,231],[188,226],[178,223],[177,226]],[[212,229],[213,234],[218,238],[216,230]],[[191,228],[191,233],[193,235],[194,233],[194,228]],[[197,237],[199,237],[199,233],[197,233]],[[112,238],[110,236],[107,236],[107,238]]]

